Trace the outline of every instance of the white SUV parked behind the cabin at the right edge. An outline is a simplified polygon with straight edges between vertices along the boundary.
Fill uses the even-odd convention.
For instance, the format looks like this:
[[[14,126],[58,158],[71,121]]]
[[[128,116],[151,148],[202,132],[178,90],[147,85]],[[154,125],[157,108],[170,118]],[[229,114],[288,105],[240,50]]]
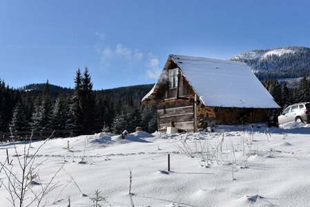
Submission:
[[[290,121],[310,123],[310,102],[292,104],[278,117],[279,125]]]

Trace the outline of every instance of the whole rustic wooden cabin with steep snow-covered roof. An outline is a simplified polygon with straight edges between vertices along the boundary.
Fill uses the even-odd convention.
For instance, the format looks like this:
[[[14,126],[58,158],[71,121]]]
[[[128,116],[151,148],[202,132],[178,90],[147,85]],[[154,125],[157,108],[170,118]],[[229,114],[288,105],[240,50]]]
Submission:
[[[158,130],[173,124],[186,132],[264,122],[280,108],[245,63],[184,55],[169,55],[142,104],[157,105]]]

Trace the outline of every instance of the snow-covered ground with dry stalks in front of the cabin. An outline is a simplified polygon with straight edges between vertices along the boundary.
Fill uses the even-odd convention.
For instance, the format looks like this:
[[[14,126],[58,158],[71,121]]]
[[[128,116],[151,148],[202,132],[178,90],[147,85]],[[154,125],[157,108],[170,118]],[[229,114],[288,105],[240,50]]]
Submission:
[[[41,148],[32,164],[32,168],[39,165],[39,172],[33,170],[39,176],[32,176],[26,203],[32,191],[40,193],[60,169],[51,182],[57,188],[43,198],[40,206],[68,206],[69,200],[70,206],[91,206],[96,190],[106,198],[99,201],[101,206],[132,206],[130,187],[134,206],[310,204],[307,124],[268,129],[264,124],[217,126],[214,132],[174,135],[135,132],[126,139],[100,133],[43,143],[33,141],[30,146],[30,155]],[[24,147],[24,142],[16,143],[21,160]],[[6,162],[6,149],[12,164],[5,166],[21,177],[14,144],[0,144],[1,163]],[[12,206],[3,169],[0,181],[0,206]]]

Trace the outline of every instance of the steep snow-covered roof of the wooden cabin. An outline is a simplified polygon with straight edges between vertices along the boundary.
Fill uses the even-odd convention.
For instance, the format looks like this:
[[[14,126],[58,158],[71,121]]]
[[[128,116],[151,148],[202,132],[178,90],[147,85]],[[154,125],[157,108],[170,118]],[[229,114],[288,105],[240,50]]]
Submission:
[[[245,63],[185,55],[170,55],[170,60],[177,63],[206,106],[280,108]]]

